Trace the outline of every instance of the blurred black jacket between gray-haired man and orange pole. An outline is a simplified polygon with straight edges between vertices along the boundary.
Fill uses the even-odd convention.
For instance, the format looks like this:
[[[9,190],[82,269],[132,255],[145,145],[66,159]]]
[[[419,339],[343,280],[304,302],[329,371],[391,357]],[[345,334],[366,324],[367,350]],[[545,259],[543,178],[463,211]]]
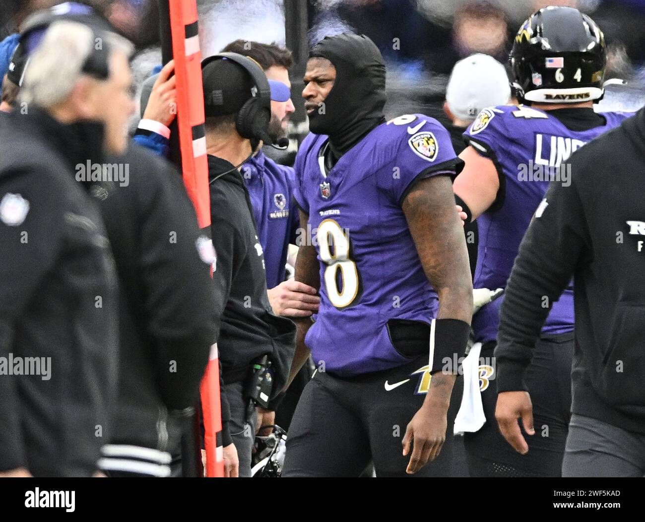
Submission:
[[[111,442],[170,451],[179,427],[168,414],[197,405],[217,335],[210,265],[200,258],[195,211],[175,168],[138,145],[106,165],[90,194],[101,206],[119,275],[121,365]],[[118,448],[110,449],[118,457]]]

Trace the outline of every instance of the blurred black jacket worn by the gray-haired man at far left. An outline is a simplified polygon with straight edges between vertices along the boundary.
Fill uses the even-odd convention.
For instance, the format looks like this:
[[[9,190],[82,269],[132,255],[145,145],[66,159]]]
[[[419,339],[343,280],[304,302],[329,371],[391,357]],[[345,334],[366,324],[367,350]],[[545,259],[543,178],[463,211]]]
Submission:
[[[26,115],[5,117],[0,471],[25,467],[35,477],[89,477],[112,433],[117,277],[99,209],[75,180],[77,165],[103,161],[102,147],[103,127],[96,123],[63,125],[33,105]],[[24,374],[26,367],[11,365],[12,358],[49,360],[49,375],[42,365]]]

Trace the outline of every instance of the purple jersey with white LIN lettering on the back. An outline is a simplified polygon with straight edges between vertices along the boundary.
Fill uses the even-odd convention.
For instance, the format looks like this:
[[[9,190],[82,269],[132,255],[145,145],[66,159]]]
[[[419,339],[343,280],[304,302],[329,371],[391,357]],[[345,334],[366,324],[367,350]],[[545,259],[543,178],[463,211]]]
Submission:
[[[566,160],[581,146],[620,125],[631,113],[605,112],[605,124],[570,130],[548,111],[524,105],[482,110],[464,132],[464,139],[499,172],[497,201],[477,218],[479,245],[474,288],[504,288],[524,232],[551,180],[570,183]],[[497,339],[502,299],[483,306],[473,317],[475,341]],[[551,304],[551,303],[548,303]],[[546,305],[546,303],[545,303]],[[545,334],[573,331],[573,289],[564,291],[542,328]]]

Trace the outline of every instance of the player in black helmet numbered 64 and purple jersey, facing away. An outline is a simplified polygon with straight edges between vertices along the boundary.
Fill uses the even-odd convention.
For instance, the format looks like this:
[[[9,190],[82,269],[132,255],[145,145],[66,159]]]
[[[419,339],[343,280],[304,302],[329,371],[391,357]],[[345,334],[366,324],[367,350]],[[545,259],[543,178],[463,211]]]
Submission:
[[[511,50],[515,91],[524,105],[484,108],[464,133],[466,162],[455,179],[458,203],[477,219],[475,288],[504,288],[524,232],[549,183],[570,183],[567,160],[577,148],[618,126],[631,114],[596,113],[603,94],[606,48],[600,28],[570,7],[546,7],[521,26]],[[494,361],[502,299],[473,316],[480,361]],[[572,283],[555,303],[533,361],[524,374],[533,399],[533,424],[525,424],[531,450],[504,441],[495,422],[506,417],[522,390],[506,388],[494,364],[479,366],[486,422],[465,434],[471,476],[560,476],[571,406]],[[514,402],[512,404],[515,404]],[[505,419],[506,420],[506,419]],[[513,417],[515,428],[517,417]],[[528,453],[527,453],[528,452]]]

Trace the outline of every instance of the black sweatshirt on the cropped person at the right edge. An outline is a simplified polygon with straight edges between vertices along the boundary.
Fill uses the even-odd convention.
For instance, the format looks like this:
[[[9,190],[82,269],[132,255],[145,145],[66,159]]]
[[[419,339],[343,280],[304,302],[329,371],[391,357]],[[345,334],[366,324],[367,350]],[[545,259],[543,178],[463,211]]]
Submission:
[[[620,151],[620,161],[616,161]],[[520,245],[500,313],[497,390],[522,374],[573,276],[571,411],[645,434],[645,109],[570,158]]]

